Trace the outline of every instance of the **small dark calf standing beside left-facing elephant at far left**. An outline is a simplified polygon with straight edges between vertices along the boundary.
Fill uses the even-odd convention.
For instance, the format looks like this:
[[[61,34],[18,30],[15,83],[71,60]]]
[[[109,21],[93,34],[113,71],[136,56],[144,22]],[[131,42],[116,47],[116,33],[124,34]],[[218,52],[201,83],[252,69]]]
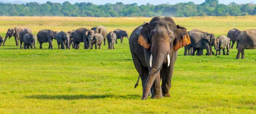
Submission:
[[[33,35],[32,33],[26,33],[23,36],[24,49],[28,49],[29,47],[33,49],[33,45],[36,49],[36,38],[36,35]]]

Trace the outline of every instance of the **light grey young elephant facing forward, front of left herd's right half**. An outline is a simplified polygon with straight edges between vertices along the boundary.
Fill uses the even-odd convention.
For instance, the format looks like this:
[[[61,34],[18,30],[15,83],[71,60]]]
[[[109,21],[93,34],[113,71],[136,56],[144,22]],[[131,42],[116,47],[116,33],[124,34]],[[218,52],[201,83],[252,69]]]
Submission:
[[[99,46],[98,49],[101,49],[101,44],[103,42],[103,35],[100,33],[94,33],[94,31],[90,30],[88,33],[88,38],[89,38],[89,43],[90,43],[90,48],[93,48],[93,45],[95,44],[95,49],[97,49],[97,46]]]

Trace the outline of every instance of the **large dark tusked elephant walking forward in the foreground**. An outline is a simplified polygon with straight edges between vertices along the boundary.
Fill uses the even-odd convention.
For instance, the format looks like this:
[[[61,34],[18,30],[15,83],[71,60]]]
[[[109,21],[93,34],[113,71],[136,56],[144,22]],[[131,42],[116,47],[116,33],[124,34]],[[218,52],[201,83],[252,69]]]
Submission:
[[[148,97],[150,88],[151,98],[170,97],[178,49],[188,44],[190,38],[186,28],[176,25],[170,17],[157,16],[134,29],[129,45],[134,66],[142,80],[142,100]]]

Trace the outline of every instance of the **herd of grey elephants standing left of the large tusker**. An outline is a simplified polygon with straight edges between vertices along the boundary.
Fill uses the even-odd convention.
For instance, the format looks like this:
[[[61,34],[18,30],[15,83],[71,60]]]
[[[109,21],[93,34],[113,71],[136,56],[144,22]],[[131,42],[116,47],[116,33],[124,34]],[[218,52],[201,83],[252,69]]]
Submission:
[[[48,49],[53,49],[53,39],[57,41],[58,49],[70,49],[71,46],[74,49],[79,49],[81,42],[84,43],[84,49],[93,49],[94,45],[95,49],[102,49],[102,44],[106,45],[106,39],[108,41],[108,49],[115,49],[114,43],[117,43],[117,39],[121,39],[121,43],[124,37],[129,40],[126,31],[116,29],[108,33],[104,26],[96,26],[91,29],[79,28],[68,32],[42,29],[38,31],[37,35],[33,35],[30,28],[14,27],[8,29],[5,39],[0,36],[0,46],[2,43],[5,45],[6,39],[8,37],[10,39],[12,36],[14,36],[16,46],[20,42],[20,49],[33,49],[33,47],[36,49],[36,40],[40,44],[40,49],[42,49],[42,43],[49,43]]]

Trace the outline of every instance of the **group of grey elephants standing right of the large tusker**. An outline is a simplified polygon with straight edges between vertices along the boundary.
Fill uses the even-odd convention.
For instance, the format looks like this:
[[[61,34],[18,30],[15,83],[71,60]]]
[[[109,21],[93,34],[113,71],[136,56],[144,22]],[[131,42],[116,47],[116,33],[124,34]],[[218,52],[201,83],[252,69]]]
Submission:
[[[220,35],[215,37],[214,33],[204,32],[198,29],[188,31],[191,44],[185,46],[184,55],[203,55],[203,50],[206,49],[206,55],[212,55],[212,47],[216,50],[216,55],[229,55],[230,49],[233,49],[234,43],[237,42],[236,48],[238,53],[236,59],[245,58],[244,49],[256,49],[256,29],[240,31],[239,29],[231,29],[228,31],[228,36]],[[232,45],[231,45],[232,41]],[[225,51],[227,50],[227,52]]]

